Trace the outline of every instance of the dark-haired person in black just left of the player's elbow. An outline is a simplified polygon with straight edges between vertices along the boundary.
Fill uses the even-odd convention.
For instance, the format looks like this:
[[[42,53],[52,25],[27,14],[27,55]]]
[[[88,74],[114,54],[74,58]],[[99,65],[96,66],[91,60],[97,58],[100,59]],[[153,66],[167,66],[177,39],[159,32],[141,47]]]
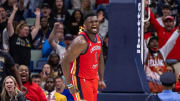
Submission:
[[[59,61],[60,61],[60,57],[58,54],[52,53],[49,56],[47,63],[51,65],[54,77],[63,75],[62,68]]]

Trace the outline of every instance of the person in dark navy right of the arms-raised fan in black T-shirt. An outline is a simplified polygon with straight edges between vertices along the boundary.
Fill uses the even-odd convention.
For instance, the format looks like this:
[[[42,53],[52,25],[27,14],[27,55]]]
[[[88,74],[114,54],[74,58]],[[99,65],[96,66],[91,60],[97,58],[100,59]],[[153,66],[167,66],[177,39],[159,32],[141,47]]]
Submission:
[[[45,40],[49,38],[49,34],[51,32],[47,18],[42,17],[40,24],[41,24],[41,28],[38,31],[37,36],[33,40],[34,49],[42,49]]]

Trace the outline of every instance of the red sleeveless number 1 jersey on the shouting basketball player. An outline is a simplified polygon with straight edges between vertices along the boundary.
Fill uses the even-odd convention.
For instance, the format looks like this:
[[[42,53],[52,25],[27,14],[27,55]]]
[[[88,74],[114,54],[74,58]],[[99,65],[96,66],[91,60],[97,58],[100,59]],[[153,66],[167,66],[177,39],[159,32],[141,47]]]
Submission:
[[[71,74],[85,79],[97,78],[99,67],[99,55],[101,53],[101,39],[96,34],[96,42],[92,42],[86,33],[81,32],[88,42],[85,53],[80,54],[76,60],[71,63]]]

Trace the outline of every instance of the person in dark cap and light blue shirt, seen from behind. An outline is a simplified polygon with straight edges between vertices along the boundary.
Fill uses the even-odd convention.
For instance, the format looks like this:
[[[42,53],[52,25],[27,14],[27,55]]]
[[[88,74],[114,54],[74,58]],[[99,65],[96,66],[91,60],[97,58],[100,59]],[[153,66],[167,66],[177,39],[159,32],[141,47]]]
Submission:
[[[180,101],[180,95],[172,92],[173,85],[176,83],[176,76],[172,72],[165,72],[160,76],[164,90],[158,94],[161,101]]]

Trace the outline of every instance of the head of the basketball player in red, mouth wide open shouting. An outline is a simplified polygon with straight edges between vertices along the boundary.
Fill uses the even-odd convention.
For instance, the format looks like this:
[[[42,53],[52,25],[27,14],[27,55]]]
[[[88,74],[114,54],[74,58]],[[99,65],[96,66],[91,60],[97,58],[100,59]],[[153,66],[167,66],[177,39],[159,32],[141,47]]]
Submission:
[[[99,30],[99,21],[97,16],[90,16],[86,19],[84,25],[86,31],[92,34],[98,33]]]

